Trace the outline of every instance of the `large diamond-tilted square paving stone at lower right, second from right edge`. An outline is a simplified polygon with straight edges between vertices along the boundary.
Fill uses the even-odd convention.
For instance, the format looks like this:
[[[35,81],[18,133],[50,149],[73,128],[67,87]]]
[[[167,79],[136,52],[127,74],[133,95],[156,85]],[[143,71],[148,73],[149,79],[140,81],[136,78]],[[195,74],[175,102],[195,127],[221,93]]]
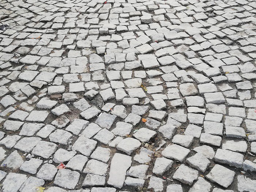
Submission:
[[[215,182],[224,188],[229,187],[234,180],[235,172],[216,164],[206,178],[211,182]]]

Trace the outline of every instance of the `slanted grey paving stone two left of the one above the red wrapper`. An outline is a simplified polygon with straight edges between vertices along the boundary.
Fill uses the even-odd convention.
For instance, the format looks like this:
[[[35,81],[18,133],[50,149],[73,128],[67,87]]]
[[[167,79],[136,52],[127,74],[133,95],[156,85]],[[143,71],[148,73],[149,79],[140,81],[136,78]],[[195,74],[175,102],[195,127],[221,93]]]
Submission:
[[[29,137],[22,138],[19,142],[14,146],[14,148],[19,149],[21,151],[25,151],[29,153],[33,150],[33,148],[37,145],[37,143],[42,140],[41,138]]]

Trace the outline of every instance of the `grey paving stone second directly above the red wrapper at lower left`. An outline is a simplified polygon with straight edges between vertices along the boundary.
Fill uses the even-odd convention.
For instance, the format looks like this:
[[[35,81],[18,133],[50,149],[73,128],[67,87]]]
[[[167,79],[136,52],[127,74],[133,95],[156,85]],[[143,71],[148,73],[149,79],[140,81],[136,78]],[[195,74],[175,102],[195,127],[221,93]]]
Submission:
[[[72,136],[73,135],[68,131],[57,129],[56,131],[54,131],[49,135],[49,139],[50,139],[50,142],[66,145],[68,144],[68,141]]]

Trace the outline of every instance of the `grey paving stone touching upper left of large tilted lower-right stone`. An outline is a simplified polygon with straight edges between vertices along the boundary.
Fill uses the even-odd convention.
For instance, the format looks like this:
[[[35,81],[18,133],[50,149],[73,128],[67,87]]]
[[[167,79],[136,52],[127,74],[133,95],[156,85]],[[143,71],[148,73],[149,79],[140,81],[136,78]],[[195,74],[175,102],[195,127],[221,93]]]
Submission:
[[[205,172],[210,165],[210,161],[202,154],[196,153],[192,157],[187,158],[186,162],[200,172]]]

